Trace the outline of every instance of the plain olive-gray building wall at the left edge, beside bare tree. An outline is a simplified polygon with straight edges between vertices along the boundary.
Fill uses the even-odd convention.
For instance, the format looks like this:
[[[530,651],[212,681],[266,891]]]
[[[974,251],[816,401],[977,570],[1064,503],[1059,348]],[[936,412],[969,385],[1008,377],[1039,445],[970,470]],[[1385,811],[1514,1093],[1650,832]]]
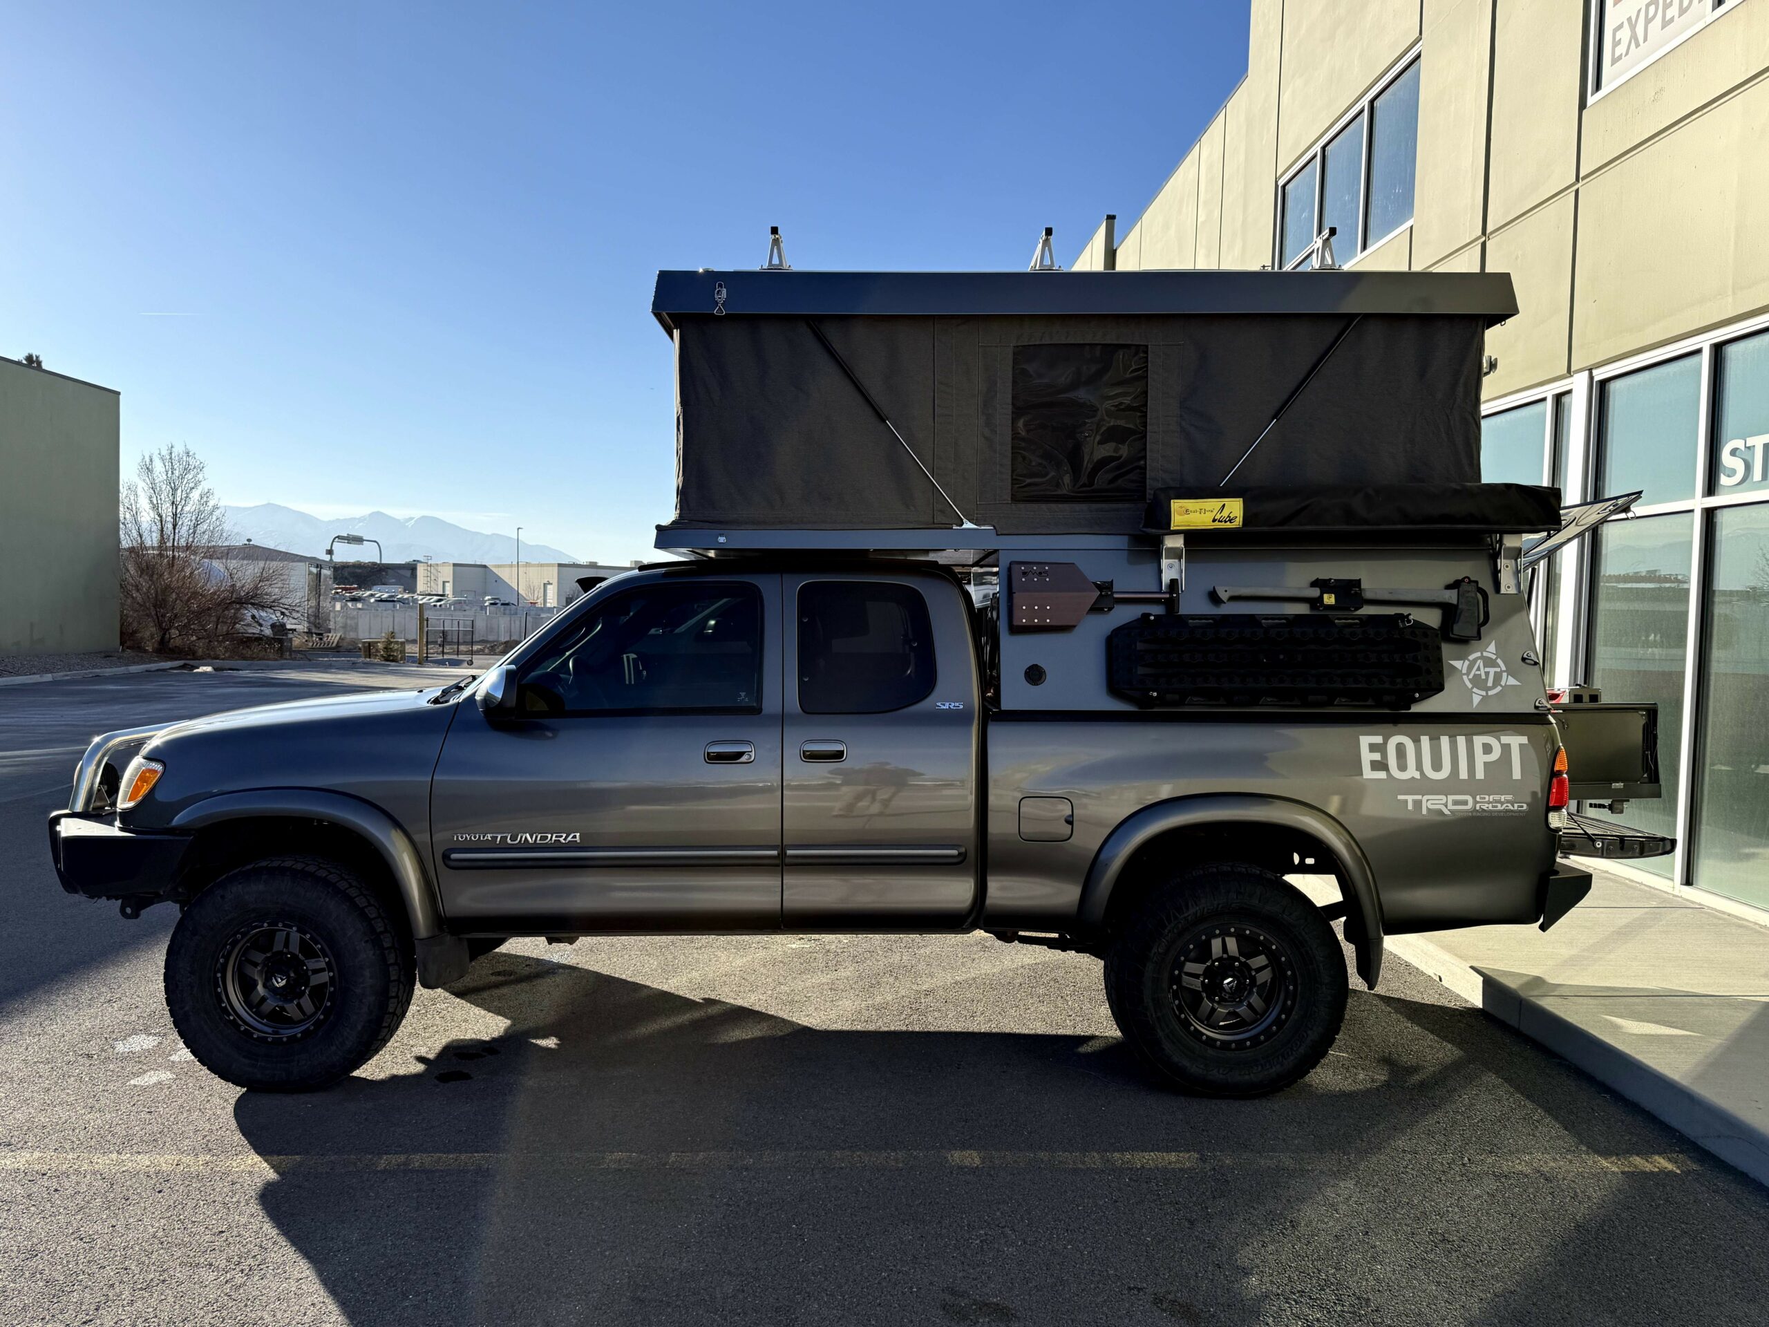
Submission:
[[[117,648],[117,407],[0,359],[0,655]]]

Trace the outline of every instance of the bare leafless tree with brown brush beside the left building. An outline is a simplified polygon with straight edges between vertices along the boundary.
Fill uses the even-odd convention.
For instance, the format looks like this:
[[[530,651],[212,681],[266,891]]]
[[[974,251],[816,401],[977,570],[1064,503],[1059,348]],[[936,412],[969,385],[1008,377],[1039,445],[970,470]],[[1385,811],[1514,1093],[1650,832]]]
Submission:
[[[120,497],[122,630],[156,655],[225,655],[253,610],[285,614],[285,580],[228,552],[226,517],[203,462],[170,442],[136,465]]]

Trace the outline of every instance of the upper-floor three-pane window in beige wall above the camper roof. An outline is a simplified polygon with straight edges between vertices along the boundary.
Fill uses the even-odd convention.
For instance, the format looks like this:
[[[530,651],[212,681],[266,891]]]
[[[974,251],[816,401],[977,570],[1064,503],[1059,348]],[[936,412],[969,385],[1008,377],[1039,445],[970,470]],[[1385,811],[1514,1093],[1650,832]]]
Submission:
[[[1343,265],[1412,221],[1417,140],[1419,60],[1412,58],[1283,182],[1279,265],[1311,267],[1304,255],[1329,226]]]

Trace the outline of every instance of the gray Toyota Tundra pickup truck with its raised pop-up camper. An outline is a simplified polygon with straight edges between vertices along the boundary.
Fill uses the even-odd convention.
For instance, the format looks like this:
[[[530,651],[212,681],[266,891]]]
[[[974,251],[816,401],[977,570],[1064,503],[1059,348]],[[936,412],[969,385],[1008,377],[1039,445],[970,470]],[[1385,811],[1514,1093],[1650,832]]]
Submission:
[[[1127,281],[1051,310],[1031,306],[1081,274],[1033,274],[1033,294],[1026,276],[948,278],[856,313],[817,276],[660,278],[681,487],[658,545],[678,561],[593,586],[448,687],[92,743],[50,821],[58,876],[126,917],[180,909],[166,1000],[212,1072],[333,1083],[386,1044],[414,984],[458,980],[511,936],[980,929],[1104,959],[1113,1016],[1159,1076],[1254,1095],[1339,1030],[1334,920],[1373,987],[1385,936],[1553,924],[1590,883],[1562,848],[1668,848],[1569,817],[1574,791],[1656,793],[1654,713],[1544,690],[1527,589],[1558,499],[1479,483],[1459,400],[1509,281],[1260,272],[1208,308]],[[1268,398],[1175,407],[1157,370],[1183,377],[1183,356],[1155,352],[1183,338],[1160,324],[1214,345],[1235,318],[1298,338],[1270,350]],[[904,354],[923,333],[961,341],[968,387],[939,354]],[[1406,352],[1405,382],[1383,377],[1433,338],[1442,363]],[[1221,448],[1187,460],[1166,437],[1263,412],[1258,446],[1293,458],[1274,425],[1323,364],[1387,384],[1433,448],[1472,448],[1472,476],[1403,441],[1364,448],[1364,469],[1320,460],[1357,449],[1336,426],[1383,425],[1369,403],[1309,423],[1327,478],[1252,465],[1228,483]],[[770,375],[791,375],[793,409]],[[916,451],[953,391],[959,418],[999,426]],[[831,435],[851,455],[819,449]],[[1221,439],[1228,460],[1251,441]],[[807,479],[817,465],[862,492],[858,517]],[[1571,782],[1574,720],[1601,782]]]

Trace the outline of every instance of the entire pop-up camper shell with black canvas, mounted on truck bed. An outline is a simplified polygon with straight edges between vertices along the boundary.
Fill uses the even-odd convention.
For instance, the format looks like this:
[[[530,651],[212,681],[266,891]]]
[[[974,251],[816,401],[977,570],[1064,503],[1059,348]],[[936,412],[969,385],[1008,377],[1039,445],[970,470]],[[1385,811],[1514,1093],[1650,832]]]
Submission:
[[[938,556],[1003,711],[1539,704],[1558,494],[1479,481],[1509,276],[701,271],[653,313],[658,547]]]

